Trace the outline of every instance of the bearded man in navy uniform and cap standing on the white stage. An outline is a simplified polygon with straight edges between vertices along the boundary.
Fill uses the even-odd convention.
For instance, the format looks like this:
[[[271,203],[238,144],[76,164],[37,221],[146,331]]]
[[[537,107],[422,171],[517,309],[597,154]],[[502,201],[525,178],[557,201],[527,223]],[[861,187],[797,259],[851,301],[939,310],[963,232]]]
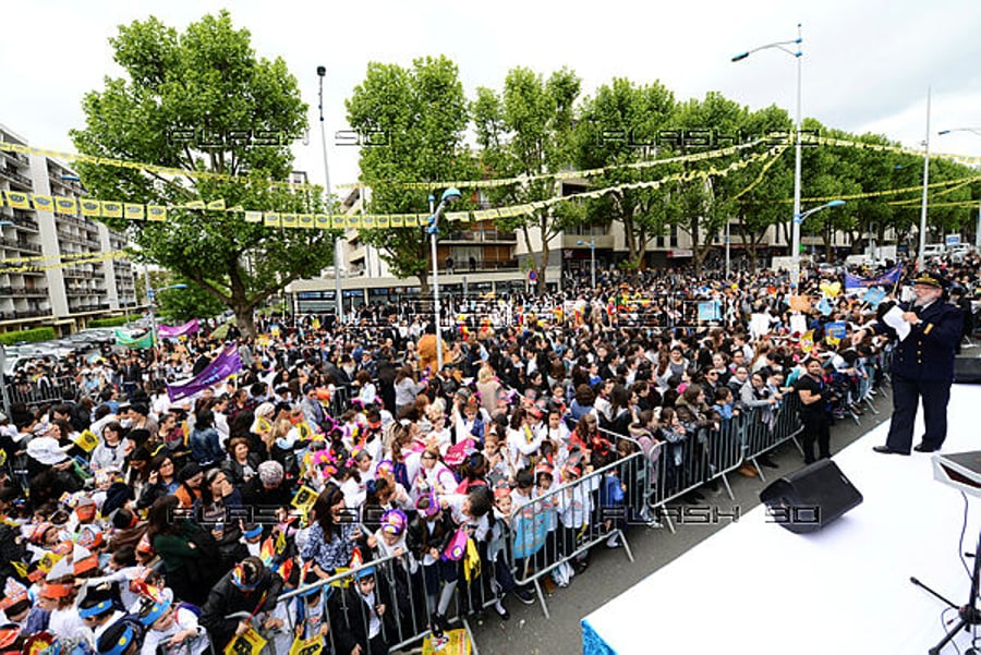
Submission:
[[[909,454],[912,446],[917,405],[923,401],[923,439],[913,450],[940,450],[947,436],[947,401],[954,381],[954,349],[964,327],[961,310],[943,300],[944,284],[940,278],[923,272],[913,280],[916,300],[901,305],[903,319],[910,331],[899,341],[893,353],[893,422],[885,446],[875,452]],[[877,335],[896,335],[882,320],[871,327]],[[858,344],[865,330],[852,336]]]

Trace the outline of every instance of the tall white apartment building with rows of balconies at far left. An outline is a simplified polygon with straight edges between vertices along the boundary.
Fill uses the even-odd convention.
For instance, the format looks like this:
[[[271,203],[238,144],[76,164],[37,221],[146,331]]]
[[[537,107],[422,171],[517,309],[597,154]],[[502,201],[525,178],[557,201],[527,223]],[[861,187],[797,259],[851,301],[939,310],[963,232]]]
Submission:
[[[0,125],[0,142],[28,145]],[[0,150],[0,191],[81,198],[77,174],[50,157]],[[132,265],[125,259],[71,258],[117,252],[125,236],[81,214],[0,204],[0,331],[55,326],[59,333],[136,306]]]

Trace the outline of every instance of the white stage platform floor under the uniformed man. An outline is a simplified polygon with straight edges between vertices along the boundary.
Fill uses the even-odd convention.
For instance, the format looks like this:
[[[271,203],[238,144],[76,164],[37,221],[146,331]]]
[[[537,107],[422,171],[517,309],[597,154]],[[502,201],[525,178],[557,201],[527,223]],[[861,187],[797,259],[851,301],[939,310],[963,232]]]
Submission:
[[[981,386],[953,387],[944,452],[981,450],[979,410]],[[909,579],[967,602],[970,575],[959,553],[974,551],[981,498],[968,496],[958,547],[960,493],[933,480],[930,454],[872,452],[887,430],[888,422],[834,457],[862,505],[809,535],[768,522],[763,506],[746,512],[585,617],[583,653],[927,653],[956,612],[942,618],[946,606]],[[921,434],[919,423],[917,440]],[[955,643],[964,653],[970,633]],[[953,645],[947,653],[956,653]]]

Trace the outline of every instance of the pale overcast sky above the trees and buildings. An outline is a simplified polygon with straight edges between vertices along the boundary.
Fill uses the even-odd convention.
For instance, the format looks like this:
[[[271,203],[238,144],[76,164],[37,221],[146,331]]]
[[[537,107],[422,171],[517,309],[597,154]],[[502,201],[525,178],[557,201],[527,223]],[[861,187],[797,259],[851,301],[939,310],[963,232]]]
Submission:
[[[83,125],[82,95],[120,74],[108,44],[118,25],[153,14],[182,32],[222,8],[251,31],[259,56],[283,57],[299,78],[313,131],[310,144],[295,148],[296,168],[318,183],[317,65],[327,68],[328,135],[347,128],[343,101],[368,62],[408,66],[426,54],[457,63],[469,98],[479,86],[499,89],[516,65],[546,76],[567,65],[588,94],[615,76],[661,80],[679,100],[717,90],[751,109],[776,104],[794,116],[794,58],[766,50],[740,63],[730,59],[796,38],[798,23],[804,116],[916,146],[925,133],[929,86],[931,150],[981,155],[981,136],[936,136],[981,128],[978,0],[21,1],[4,7],[0,123],[32,145],[74,151],[68,132]],[[331,183],[355,181],[358,148],[332,142],[328,136]]]

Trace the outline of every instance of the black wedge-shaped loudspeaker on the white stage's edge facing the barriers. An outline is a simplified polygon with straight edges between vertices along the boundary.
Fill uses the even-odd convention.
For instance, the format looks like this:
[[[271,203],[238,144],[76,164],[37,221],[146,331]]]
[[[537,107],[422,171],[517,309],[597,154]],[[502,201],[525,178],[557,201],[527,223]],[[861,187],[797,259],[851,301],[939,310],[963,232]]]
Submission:
[[[773,521],[796,534],[816,532],[862,502],[862,495],[831,460],[819,460],[760,492]]]

